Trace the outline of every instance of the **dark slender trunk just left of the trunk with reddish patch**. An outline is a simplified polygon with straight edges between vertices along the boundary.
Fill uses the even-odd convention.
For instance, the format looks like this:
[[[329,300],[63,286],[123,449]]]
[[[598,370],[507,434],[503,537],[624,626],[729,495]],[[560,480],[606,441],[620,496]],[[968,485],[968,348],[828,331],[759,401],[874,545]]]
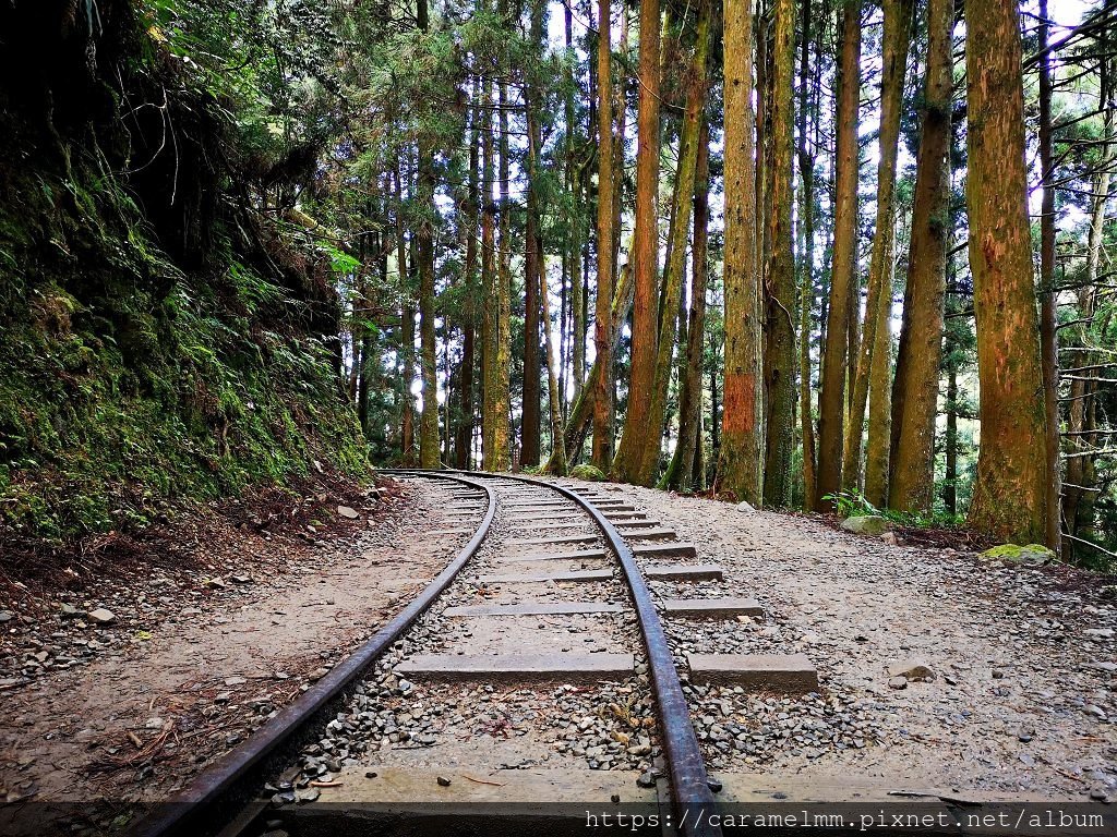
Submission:
[[[661,488],[689,490],[695,451],[701,433],[701,356],[706,337],[706,282],[709,278],[709,123],[701,118],[694,182],[695,234],[690,273],[690,312],[685,364],[679,378],[679,441],[660,483]]]

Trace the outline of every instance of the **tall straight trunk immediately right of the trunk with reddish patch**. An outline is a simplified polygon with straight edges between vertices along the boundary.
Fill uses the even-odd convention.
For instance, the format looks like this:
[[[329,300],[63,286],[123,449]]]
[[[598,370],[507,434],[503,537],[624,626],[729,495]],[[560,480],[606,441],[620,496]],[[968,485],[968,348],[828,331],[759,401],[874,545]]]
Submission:
[[[791,503],[791,453],[795,443],[795,256],[791,225],[795,66],[795,3],[776,0],[772,48],[772,150],[768,156],[772,212],[767,217],[764,389],[766,443],[764,502]]]

